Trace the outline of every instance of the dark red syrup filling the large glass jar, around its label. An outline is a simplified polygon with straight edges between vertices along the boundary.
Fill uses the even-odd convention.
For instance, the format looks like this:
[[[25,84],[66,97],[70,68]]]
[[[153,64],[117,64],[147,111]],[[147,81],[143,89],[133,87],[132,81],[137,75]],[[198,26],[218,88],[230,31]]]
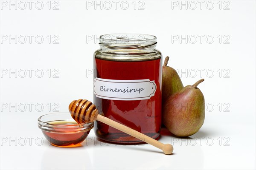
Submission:
[[[150,79],[157,85],[154,96],[144,100],[101,99],[94,95],[94,104],[99,113],[131,127],[147,136],[158,139],[161,126],[161,59],[121,62],[95,58],[94,67],[98,78],[115,80]],[[95,122],[95,133],[99,139],[120,144],[142,142],[102,122]]]

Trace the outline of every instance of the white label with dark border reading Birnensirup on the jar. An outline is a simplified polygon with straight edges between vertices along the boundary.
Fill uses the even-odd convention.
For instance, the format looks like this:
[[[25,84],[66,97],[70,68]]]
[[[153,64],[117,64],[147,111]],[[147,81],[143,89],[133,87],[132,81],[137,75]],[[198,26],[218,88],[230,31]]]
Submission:
[[[96,97],[111,100],[143,100],[154,96],[156,83],[149,79],[113,80],[95,78],[93,92]]]

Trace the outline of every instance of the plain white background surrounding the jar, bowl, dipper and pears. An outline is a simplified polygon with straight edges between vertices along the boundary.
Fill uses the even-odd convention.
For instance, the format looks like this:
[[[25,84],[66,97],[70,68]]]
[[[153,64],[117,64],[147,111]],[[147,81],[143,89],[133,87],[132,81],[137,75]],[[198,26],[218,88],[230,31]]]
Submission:
[[[123,1],[117,3],[116,9],[110,1],[109,10],[105,1],[94,9],[94,1],[47,0],[42,1],[41,10],[37,9],[41,7],[37,1],[33,1],[31,10],[27,1],[23,10],[20,8],[24,4],[19,2],[15,9],[9,1],[1,0],[1,169],[256,168],[255,1],[204,1],[202,9],[195,1],[194,10],[195,3],[190,1],[182,1],[188,4],[187,9],[180,9],[180,1],[136,1],[135,9],[134,1],[127,1],[126,10]],[[87,6],[91,3],[93,6]],[[56,5],[58,10],[53,10]],[[138,10],[141,5],[144,9]],[[205,79],[198,86],[207,104],[204,125],[187,139],[162,135],[160,142],[174,146],[170,156],[148,144],[108,146],[94,139],[93,130],[83,147],[49,146],[37,127],[37,118],[55,111],[67,112],[74,99],[93,99],[93,75],[86,73],[93,69],[93,52],[99,48],[96,38],[120,32],[157,36],[157,49],[163,57],[170,57],[169,66],[183,73],[183,85]],[[24,44],[23,39],[16,44],[15,40],[5,40],[9,35],[34,37],[31,43],[27,37]],[[44,37],[41,44],[35,41],[37,35]],[[187,35],[188,42],[174,40],[180,35]],[[193,35],[198,38],[195,43]],[[202,42],[198,35],[204,36]],[[207,41],[207,36],[214,37],[214,41]],[[58,44],[52,42],[56,37]],[[9,74],[15,69],[17,77]],[[24,78],[22,69],[26,70]],[[27,69],[34,69],[31,77]],[[41,70],[35,74],[37,69]],[[40,71],[44,75],[38,78]],[[44,139],[43,144],[40,139]]]

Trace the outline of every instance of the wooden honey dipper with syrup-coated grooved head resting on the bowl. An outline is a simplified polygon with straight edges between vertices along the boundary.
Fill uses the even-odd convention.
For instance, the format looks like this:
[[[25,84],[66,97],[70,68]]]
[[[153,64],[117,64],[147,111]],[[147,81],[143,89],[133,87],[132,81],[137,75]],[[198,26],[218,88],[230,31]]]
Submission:
[[[171,144],[163,144],[149,136],[144,135],[143,133],[131,129],[130,127],[127,127],[111,119],[108,119],[105,116],[100,115],[98,109],[96,109],[96,106],[88,100],[74,100],[69,105],[69,111],[73,119],[78,123],[94,122],[95,120],[98,120],[137,139],[140,139],[143,142],[146,142],[153,145],[154,147],[163,150],[163,153],[165,153],[166,155],[171,154],[173,151],[173,147]]]

